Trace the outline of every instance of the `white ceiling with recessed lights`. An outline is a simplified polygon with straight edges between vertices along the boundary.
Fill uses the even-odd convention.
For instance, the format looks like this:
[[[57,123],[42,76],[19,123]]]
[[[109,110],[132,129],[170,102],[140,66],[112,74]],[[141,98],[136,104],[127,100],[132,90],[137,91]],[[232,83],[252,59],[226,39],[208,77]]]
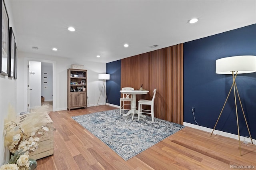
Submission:
[[[19,51],[101,63],[256,24],[256,0],[8,3]],[[191,18],[199,21],[188,24]],[[76,31],[68,31],[69,26]],[[53,47],[58,51],[52,51]]]

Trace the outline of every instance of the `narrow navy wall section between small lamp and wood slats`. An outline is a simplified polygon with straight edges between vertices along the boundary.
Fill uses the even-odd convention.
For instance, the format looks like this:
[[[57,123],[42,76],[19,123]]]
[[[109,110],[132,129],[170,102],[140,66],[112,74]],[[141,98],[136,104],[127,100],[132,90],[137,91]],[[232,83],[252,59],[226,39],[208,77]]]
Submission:
[[[121,89],[121,60],[106,63],[106,73],[110,74],[110,80],[106,81],[108,103],[119,106],[119,91]]]

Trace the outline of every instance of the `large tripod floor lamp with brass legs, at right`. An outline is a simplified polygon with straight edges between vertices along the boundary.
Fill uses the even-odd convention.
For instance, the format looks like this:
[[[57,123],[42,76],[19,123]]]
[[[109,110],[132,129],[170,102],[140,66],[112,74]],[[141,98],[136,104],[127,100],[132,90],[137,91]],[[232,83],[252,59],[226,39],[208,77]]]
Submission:
[[[242,156],[241,154],[241,144],[240,144],[240,132],[239,132],[239,125],[238,125],[238,113],[237,113],[237,103],[236,103],[236,94],[238,96],[241,108],[242,108],[242,112],[244,115],[244,109],[242,107],[242,103],[240,100],[240,96],[238,93],[238,89],[236,87],[236,76],[237,74],[243,74],[243,73],[253,73],[256,72],[256,56],[254,55],[241,55],[241,56],[234,56],[234,57],[225,57],[225,58],[221,58],[221,59],[217,59],[216,60],[216,73],[217,74],[232,74],[233,77],[233,84],[230,88],[230,91],[228,93],[228,96],[226,98],[226,101],[222,107],[222,110],[220,112],[220,115],[222,114],[222,111],[226,105],[226,102],[228,100],[228,97],[230,95],[230,92],[232,91],[232,89],[234,89],[234,99],[235,99],[235,106],[236,106],[236,122],[237,122],[237,130],[238,130],[238,140],[239,140],[239,149],[240,149],[240,156]],[[213,131],[220,119],[220,115],[216,121],[216,124],[212,130],[212,134]],[[252,136],[246,121],[246,117],[244,115],[244,120],[250,135],[250,138],[252,140]],[[211,134],[211,136],[212,136]],[[253,142],[252,142],[253,144]]]

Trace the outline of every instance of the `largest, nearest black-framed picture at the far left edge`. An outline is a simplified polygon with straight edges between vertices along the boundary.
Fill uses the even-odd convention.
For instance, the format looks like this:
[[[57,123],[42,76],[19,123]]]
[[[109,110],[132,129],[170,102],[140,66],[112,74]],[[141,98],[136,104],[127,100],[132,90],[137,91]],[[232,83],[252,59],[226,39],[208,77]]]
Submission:
[[[0,9],[1,9],[1,21],[0,21],[0,27],[2,28],[2,34],[0,34],[1,36],[1,57],[0,57],[0,67],[1,67],[1,72],[0,74],[2,75],[8,75],[8,51],[9,51],[9,17],[8,17],[8,13],[6,10],[6,6],[4,3],[4,0],[0,0],[1,1],[1,5],[0,5]],[[2,36],[3,35],[3,36]]]

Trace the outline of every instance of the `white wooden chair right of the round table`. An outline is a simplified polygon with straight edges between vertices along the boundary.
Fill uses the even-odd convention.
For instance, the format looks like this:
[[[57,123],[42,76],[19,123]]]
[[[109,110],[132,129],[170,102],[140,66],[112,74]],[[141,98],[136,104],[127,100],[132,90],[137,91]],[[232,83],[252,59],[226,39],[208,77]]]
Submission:
[[[138,121],[140,120],[140,114],[144,113],[144,114],[151,114],[151,118],[152,118],[152,122],[154,122],[154,99],[156,96],[156,89],[154,89],[154,95],[152,100],[144,100],[144,99],[140,99],[138,101]],[[151,105],[151,110],[146,110],[146,109],[142,109],[142,105]],[[142,112],[144,111],[144,112]]]

